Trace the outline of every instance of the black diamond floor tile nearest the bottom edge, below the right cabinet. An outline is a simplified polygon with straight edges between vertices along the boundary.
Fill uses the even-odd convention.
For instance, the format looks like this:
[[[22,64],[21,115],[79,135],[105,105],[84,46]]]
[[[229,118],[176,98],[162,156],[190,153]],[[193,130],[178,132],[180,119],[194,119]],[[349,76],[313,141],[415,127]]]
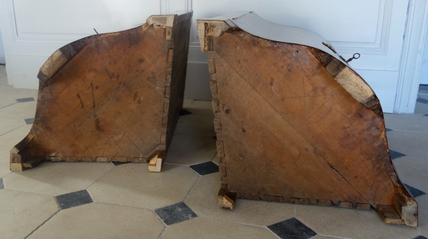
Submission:
[[[269,225],[267,228],[282,239],[307,239],[317,235],[315,231],[296,218]]]

